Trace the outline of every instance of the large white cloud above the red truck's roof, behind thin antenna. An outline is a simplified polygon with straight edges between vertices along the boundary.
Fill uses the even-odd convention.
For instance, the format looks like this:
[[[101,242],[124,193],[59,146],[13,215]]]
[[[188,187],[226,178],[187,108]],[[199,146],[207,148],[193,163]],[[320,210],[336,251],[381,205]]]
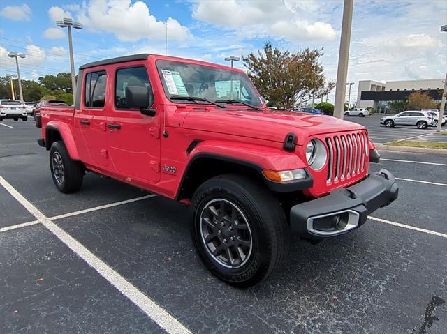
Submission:
[[[92,30],[114,33],[119,40],[135,42],[141,38],[164,40],[166,22],[156,20],[146,3],[131,0],[91,0],[83,3],[77,12],[78,20]],[[185,40],[189,31],[169,17],[168,39]]]

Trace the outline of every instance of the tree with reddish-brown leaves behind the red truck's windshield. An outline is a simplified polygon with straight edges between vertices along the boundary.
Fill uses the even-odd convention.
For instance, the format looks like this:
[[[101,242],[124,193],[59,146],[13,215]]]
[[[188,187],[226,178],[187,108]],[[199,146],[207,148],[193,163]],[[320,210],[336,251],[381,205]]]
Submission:
[[[334,88],[325,84],[323,67],[318,63],[323,50],[281,51],[265,43],[263,52],[242,56],[249,77],[270,105],[293,108],[312,98],[321,98]]]

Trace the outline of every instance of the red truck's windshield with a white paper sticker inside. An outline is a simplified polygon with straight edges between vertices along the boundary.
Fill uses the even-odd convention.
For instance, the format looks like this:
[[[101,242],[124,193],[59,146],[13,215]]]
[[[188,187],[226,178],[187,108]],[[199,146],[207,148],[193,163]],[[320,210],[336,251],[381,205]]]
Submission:
[[[261,96],[244,73],[179,61],[159,60],[156,66],[163,89],[170,99],[195,96],[210,101],[240,100],[254,106],[263,104]],[[175,102],[191,103],[191,100],[178,99]]]

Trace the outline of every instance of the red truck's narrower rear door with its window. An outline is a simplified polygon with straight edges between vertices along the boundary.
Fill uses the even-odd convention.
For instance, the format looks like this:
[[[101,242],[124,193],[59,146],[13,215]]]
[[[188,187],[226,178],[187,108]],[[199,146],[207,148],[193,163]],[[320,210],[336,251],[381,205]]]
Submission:
[[[107,73],[97,70],[85,74],[82,102],[75,110],[75,139],[83,162],[96,166],[108,166],[107,132],[105,125],[105,89]]]

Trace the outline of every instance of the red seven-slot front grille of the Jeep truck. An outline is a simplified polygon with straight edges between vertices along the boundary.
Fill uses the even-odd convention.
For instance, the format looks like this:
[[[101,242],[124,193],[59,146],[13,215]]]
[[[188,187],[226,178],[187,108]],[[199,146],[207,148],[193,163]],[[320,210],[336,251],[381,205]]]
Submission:
[[[369,158],[366,132],[358,131],[325,137],[328,146],[328,185],[362,174]]]

